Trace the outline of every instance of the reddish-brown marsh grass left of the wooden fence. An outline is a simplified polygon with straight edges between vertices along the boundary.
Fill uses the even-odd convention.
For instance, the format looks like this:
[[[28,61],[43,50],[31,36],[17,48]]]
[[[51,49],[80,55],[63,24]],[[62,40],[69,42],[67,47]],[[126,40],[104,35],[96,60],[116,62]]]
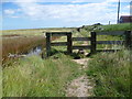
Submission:
[[[2,37],[2,59],[4,61],[9,53],[25,53],[37,45],[45,45],[44,36]]]

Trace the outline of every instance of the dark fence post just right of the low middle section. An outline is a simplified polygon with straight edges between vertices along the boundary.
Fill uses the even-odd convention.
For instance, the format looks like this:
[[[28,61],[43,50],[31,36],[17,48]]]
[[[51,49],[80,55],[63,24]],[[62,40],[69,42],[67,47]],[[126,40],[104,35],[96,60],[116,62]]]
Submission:
[[[97,36],[96,32],[91,32],[91,47],[90,47],[91,54],[96,53],[96,46],[97,46],[96,36]]]

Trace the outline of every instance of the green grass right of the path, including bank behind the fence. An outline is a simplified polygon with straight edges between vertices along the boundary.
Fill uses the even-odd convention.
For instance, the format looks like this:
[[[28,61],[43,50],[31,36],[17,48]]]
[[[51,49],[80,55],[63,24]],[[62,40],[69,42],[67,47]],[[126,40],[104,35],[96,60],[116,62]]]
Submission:
[[[96,30],[94,30],[96,28]],[[102,30],[99,30],[102,29]],[[127,31],[132,24],[88,25],[81,30],[84,36],[90,31]],[[84,31],[87,31],[85,33]],[[121,41],[123,36],[98,35],[97,41]],[[123,48],[120,45],[98,45],[98,50]],[[129,97],[130,96],[130,51],[116,53],[98,53],[88,63],[87,75],[95,79],[95,95],[97,97]]]

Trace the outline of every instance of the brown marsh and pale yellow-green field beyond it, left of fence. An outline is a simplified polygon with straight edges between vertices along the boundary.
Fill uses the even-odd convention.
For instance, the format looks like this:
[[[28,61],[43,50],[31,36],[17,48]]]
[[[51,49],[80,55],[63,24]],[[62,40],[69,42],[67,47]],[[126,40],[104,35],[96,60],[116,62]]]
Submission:
[[[45,46],[45,32],[62,32],[72,31],[73,29],[53,28],[53,29],[29,29],[29,30],[6,30],[2,31],[2,61],[8,59],[10,54],[22,54],[29,52],[31,48],[43,45]],[[53,37],[55,40],[56,37]]]

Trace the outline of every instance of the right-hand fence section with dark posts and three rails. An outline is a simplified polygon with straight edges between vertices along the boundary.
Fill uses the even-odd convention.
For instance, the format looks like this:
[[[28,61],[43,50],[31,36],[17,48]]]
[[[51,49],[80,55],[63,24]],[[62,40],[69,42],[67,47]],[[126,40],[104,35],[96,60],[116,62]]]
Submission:
[[[92,40],[94,41],[91,43],[92,47],[92,53],[96,52],[116,52],[116,51],[120,51],[120,50],[97,50],[97,44],[113,44],[113,45],[124,45],[127,48],[131,48],[132,47],[132,31],[113,31],[113,32],[91,32]],[[97,36],[98,35],[124,35],[125,38],[124,41],[97,41]]]

